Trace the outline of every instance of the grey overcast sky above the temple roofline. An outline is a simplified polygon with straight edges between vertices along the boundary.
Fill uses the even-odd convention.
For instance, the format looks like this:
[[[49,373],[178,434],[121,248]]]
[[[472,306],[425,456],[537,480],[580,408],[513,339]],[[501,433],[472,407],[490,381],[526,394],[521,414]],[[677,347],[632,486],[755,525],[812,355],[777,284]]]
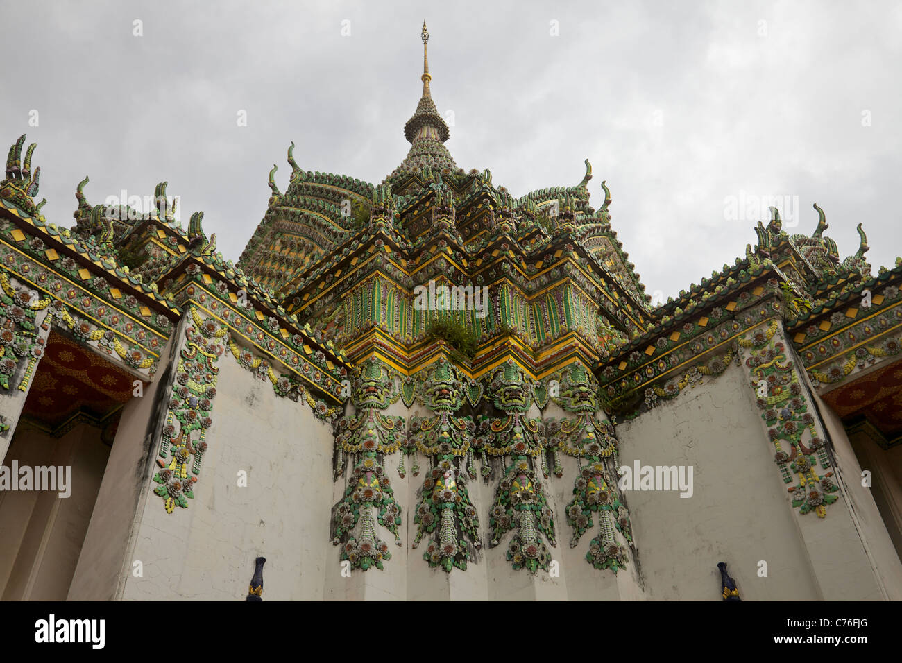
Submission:
[[[424,18],[457,165],[520,196],[588,157],[649,293],[743,255],[768,198],[790,234],[823,207],[842,258],[863,222],[874,272],[902,253],[898,2],[0,0],[0,138],[38,142],[48,220],[72,225],[85,175],[91,204],[168,180],[237,260],[291,141],[376,184],[404,158]]]

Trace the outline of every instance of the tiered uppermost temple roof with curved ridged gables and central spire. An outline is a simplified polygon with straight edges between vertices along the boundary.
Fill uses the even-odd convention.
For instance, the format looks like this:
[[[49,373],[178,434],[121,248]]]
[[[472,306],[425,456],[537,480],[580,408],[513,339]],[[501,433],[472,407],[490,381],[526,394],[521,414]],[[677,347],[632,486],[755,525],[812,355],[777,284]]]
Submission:
[[[239,263],[244,270],[272,289],[279,299],[289,297],[304,284],[317,282],[329,265],[340,258],[334,253],[367,225],[376,189],[384,188],[395,210],[391,225],[397,224],[405,241],[414,244],[431,225],[428,207],[439,198],[444,201],[443,207],[456,209],[455,223],[462,233],[462,244],[467,244],[483,227],[483,221],[479,221],[483,212],[492,217],[491,228],[496,215],[511,216],[515,217],[515,226],[524,225],[524,232],[539,223],[547,235],[553,234],[563,216],[569,215],[574,224],[573,239],[584,244],[636,306],[650,308],[640,276],[612,230],[608,211],[611,197],[604,184],[603,206],[596,211],[589,204],[592,166],[588,160],[584,177],[575,186],[537,189],[520,198],[512,197],[504,187],[494,186],[489,170],[465,173],[456,166],[445,146],[448,126],[432,98],[426,23],[421,38],[422,93],[414,114],[404,124],[404,137],[410,142],[404,160],[382,185],[374,186],[350,177],[303,170],[289,150],[290,183],[281,193],[273,180],[273,167],[269,183],[272,197],[262,223],[241,256]],[[473,246],[470,250],[477,249]]]

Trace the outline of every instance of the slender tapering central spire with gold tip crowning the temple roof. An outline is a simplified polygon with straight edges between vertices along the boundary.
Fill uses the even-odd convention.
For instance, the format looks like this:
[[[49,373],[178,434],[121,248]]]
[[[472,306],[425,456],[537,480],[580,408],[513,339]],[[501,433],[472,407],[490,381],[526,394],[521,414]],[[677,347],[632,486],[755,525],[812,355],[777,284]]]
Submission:
[[[417,104],[417,111],[404,124],[404,137],[410,142],[410,152],[401,161],[400,166],[391,172],[385,181],[395,183],[406,176],[419,174],[424,168],[437,170],[438,172],[451,172],[457,170],[457,164],[451,157],[451,153],[445,147],[449,132],[445,120],[438,114],[432,93],[429,89],[429,57],[427,42],[429,33],[426,30],[426,22],[423,22],[423,75],[419,77],[423,81],[423,95]]]

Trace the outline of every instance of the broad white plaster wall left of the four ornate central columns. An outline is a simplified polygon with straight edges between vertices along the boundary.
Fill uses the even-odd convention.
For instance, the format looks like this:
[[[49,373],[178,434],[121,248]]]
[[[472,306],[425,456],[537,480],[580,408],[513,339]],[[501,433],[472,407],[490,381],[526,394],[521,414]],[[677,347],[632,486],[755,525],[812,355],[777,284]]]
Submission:
[[[121,598],[243,600],[262,556],[264,600],[321,599],[332,548],[332,430],[227,352],[216,365],[195,497],[167,513],[151,493],[156,483],[146,488],[130,556],[143,562],[143,577],[126,576]],[[247,487],[237,485],[240,470]]]

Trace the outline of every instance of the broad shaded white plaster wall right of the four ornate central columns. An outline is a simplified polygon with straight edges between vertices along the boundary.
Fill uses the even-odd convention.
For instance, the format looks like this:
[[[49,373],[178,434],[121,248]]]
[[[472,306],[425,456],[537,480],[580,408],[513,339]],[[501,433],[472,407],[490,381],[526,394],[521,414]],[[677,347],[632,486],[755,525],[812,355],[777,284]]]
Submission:
[[[758,411],[731,364],[713,382],[617,426],[621,465],[694,467],[691,498],[625,493],[649,598],[720,601],[721,561],[743,599],[822,598]],[[757,575],[759,560],[768,577]]]

